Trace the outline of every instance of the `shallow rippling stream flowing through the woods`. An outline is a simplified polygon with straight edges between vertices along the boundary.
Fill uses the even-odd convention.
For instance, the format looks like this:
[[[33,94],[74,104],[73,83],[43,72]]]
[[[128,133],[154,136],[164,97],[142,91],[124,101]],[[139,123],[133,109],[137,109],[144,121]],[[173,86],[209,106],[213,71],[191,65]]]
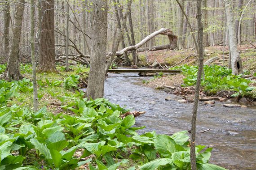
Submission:
[[[193,103],[177,102],[181,97],[146,87],[137,73],[112,74],[105,81],[105,98],[130,110],[146,111],[136,118],[140,132],[173,134],[190,129]],[[165,101],[167,96],[173,100]],[[205,133],[200,131],[210,129]],[[196,144],[212,145],[210,163],[230,170],[256,170],[256,107],[226,108],[199,102]]]

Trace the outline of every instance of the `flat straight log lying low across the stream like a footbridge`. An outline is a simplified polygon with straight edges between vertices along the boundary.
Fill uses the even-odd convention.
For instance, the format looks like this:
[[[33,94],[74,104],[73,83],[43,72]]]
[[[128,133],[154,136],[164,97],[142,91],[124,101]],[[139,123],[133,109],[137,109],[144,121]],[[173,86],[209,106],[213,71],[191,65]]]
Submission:
[[[165,73],[180,73],[181,70],[163,70],[163,69],[109,69],[108,72],[165,72]]]

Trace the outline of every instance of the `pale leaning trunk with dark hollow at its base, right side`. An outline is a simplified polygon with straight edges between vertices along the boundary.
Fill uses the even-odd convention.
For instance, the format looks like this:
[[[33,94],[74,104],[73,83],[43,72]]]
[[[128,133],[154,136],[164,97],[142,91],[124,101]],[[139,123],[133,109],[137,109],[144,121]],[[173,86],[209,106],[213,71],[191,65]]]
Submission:
[[[238,75],[243,73],[242,61],[237,49],[236,31],[234,26],[234,13],[231,8],[231,0],[225,1],[225,11],[227,17],[227,23],[229,28],[229,40],[230,40],[230,53],[231,53],[231,68],[232,74]]]

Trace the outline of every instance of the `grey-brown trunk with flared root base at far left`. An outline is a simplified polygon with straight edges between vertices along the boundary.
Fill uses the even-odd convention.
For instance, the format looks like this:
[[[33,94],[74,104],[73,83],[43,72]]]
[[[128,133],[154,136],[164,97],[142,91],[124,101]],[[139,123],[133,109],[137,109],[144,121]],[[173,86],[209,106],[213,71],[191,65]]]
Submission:
[[[25,0],[20,0],[20,3],[16,4],[16,13],[14,16],[14,28],[13,28],[13,39],[10,51],[10,56],[7,64],[7,68],[0,76],[0,79],[6,79],[8,81],[21,80],[23,77],[19,69],[19,43],[21,39],[21,29],[22,29],[22,18],[24,12]]]

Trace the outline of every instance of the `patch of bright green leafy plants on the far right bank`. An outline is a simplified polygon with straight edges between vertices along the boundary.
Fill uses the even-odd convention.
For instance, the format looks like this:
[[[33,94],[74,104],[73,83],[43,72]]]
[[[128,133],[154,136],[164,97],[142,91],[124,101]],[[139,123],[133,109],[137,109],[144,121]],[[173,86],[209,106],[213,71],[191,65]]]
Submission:
[[[192,86],[196,84],[198,66],[183,65],[181,67],[175,67],[173,69],[181,69],[185,78],[183,79],[183,86]],[[220,90],[232,90],[237,91],[233,94],[233,97],[241,95],[242,97],[248,92],[254,90],[254,87],[250,87],[250,80],[242,78],[242,74],[234,76],[231,74],[231,69],[221,67],[218,65],[203,67],[204,79],[201,85],[204,89],[212,94],[215,94]]]

